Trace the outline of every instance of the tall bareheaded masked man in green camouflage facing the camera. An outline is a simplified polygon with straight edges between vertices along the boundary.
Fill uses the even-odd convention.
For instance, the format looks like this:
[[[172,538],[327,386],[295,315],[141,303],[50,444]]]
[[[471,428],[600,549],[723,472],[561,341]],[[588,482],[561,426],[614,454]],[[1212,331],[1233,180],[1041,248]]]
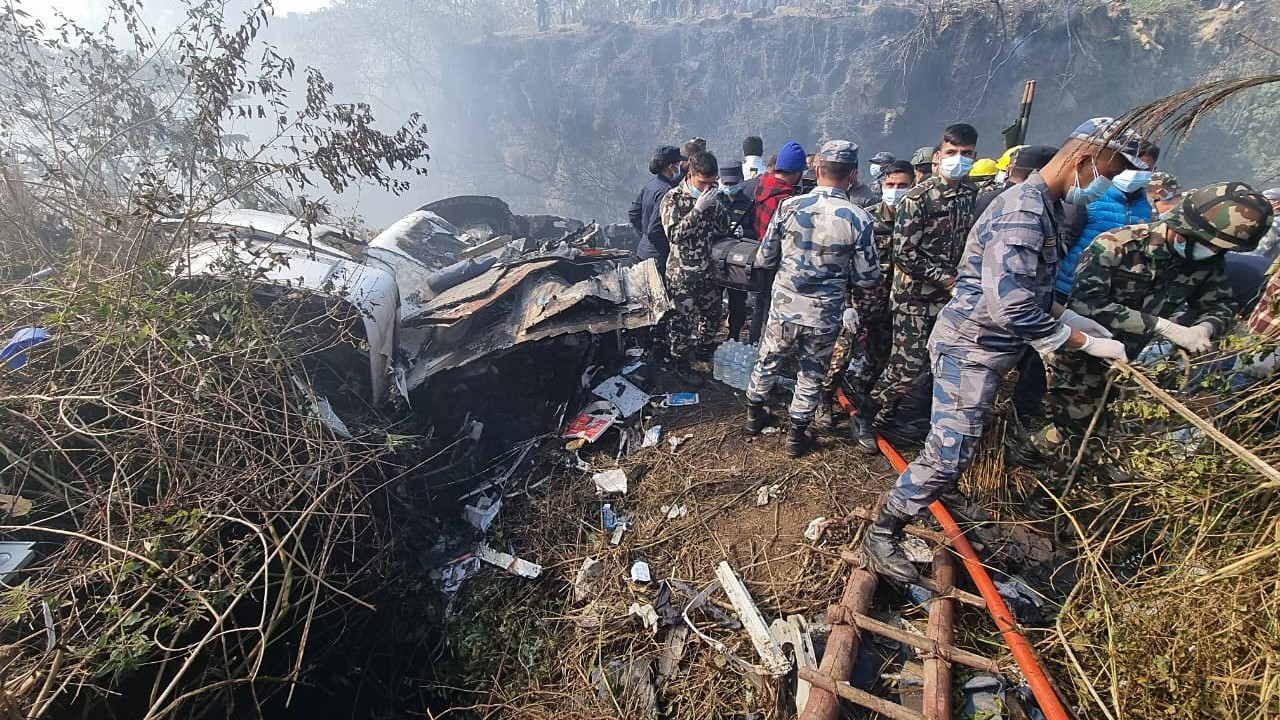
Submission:
[[[868,410],[877,413],[876,430],[899,447],[918,445],[929,428],[929,331],[951,299],[964,238],[973,227],[978,190],[968,176],[977,155],[973,126],[947,127],[933,154],[937,174],[897,206],[890,296],[893,341]]]

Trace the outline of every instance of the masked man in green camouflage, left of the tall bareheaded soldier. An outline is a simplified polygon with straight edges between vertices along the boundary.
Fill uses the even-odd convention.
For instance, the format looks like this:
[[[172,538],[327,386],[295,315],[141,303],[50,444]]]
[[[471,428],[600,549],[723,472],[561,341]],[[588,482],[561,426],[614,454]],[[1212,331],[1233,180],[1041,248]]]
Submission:
[[[876,448],[874,437],[869,429],[868,397],[884,369],[888,360],[890,342],[892,334],[892,316],[888,306],[888,287],[893,277],[893,222],[897,219],[897,204],[906,197],[906,193],[915,186],[915,168],[906,160],[891,160],[884,164],[881,172],[881,201],[868,208],[872,215],[872,233],[876,237],[876,254],[881,260],[881,282],[876,287],[855,292],[851,305],[858,309],[861,319],[858,333],[841,331],[836,341],[836,350],[831,355],[831,366],[827,369],[827,379],[822,384],[822,405],[818,407],[819,425],[826,420],[833,424],[832,419],[826,419],[823,411],[829,415],[832,398],[836,388],[842,380],[847,380],[846,387],[851,391],[850,401],[856,413],[849,418],[850,434],[864,452],[879,452]],[[854,369],[850,363],[854,360]],[[868,425],[864,428],[864,425]],[[867,443],[863,438],[870,438]]]

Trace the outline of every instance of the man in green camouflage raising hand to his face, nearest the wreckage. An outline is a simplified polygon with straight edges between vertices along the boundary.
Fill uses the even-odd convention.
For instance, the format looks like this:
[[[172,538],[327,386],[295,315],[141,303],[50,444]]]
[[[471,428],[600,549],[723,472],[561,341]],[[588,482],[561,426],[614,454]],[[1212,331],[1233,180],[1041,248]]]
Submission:
[[[671,241],[667,258],[667,293],[675,304],[671,316],[671,360],[676,375],[701,384],[692,363],[709,357],[723,319],[721,287],[712,273],[712,241],[730,233],[728,213],[719,202],[719,168],[710,152],[689,158],[685,182],[662,199],[662,227]]]

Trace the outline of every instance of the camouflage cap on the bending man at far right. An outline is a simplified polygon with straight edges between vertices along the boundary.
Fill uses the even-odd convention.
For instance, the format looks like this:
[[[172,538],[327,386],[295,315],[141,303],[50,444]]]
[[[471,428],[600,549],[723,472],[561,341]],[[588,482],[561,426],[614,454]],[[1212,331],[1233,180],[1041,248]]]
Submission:
[[[1274,211],[1243,182],[1219,182],[1188,192],[1165,223],[1178,234],[1219,250],[1248,252],[1271,229]]]

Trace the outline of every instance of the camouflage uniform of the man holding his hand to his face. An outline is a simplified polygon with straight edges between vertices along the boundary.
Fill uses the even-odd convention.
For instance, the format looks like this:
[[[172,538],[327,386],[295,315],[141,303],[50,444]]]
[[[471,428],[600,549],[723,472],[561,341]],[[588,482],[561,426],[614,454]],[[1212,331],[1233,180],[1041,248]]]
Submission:
[[[723,320],[721,287],[712,273],[712,241],[730,233],[728,214],[719,202],[695,213],[695,201],[689,186],[681,183],[659,206],[662,228],[671,240],[667,293],[675,305],[668,324],[672,357],[689,359],[696,346],[709,345]]]

